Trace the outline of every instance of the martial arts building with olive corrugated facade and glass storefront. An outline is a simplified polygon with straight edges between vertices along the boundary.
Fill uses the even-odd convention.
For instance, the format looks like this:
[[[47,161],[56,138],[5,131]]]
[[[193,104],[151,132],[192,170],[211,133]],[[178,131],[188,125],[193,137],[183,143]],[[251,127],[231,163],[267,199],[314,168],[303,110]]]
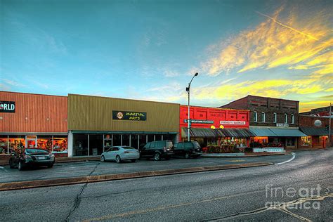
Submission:
[[[179,104],[68,95],[68,156],[100,155],[113,145],[176,141]]]

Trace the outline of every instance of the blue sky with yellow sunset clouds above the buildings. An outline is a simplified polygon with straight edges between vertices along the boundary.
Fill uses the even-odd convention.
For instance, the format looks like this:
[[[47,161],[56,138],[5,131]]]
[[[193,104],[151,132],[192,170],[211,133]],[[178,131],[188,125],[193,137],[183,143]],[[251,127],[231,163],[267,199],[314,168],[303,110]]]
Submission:
[[[0,90],[333,102],[333,1],[0,0]]]

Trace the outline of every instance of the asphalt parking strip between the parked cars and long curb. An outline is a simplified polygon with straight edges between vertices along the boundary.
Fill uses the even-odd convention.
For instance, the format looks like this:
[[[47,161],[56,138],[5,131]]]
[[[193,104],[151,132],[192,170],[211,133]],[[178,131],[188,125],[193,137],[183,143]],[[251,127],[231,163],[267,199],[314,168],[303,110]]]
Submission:
[[[72,162],[56,163],[52,169],[40,167],[18,171],[9,166],[0,166],[0,183],[13,181],[35,181],[51,178],[70,178],[77,176],[125,174],[137,171],[155,171],[163,169],[183,169],[198,166],[217,166],[224,164],[246,164],[251,162],[284,162],[291,155],[267,157],[237,157],[237,158],[197,158],[197,159],[162,159],[161,161],[138,160],[138,162]]]

